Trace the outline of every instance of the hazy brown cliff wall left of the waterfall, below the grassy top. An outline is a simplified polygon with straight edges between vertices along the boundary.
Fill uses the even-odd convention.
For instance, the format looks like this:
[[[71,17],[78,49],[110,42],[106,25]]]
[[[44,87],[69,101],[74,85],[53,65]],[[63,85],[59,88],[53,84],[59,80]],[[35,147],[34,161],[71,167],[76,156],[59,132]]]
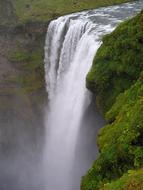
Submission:
[[[12,9],[4,2],[8,10]],[[30,146],[40,152],[44,133],[43,47],[47,25],[16,23],[12,16],[0,25],[0,153],[6,157],[17,149],[26,153]]]

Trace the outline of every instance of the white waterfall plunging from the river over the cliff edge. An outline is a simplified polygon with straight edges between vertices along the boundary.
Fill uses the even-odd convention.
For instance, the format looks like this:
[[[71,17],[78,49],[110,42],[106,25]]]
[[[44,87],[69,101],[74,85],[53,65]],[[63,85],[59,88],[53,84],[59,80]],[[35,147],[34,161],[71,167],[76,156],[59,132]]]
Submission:
[[[50,23],[45,44],[49,97],[45,116],[46,190],[73,190],[76,146],[83,116],[91,103],[91,94],[85,88],[86,74],[102,43],[102,36],[141,8],[143,3],[139,1],[71,14]],[[83,174],[82,171],[80,175]],[[75,187],[74,190],[78,190],[79,184]]]

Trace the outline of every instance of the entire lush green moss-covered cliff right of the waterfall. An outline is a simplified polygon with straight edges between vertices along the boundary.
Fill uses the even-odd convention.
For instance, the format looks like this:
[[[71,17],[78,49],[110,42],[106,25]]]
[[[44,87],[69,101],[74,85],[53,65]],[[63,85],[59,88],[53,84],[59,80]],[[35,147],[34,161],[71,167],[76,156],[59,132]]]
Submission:
[[[143,12],[103,39],[87,87],[108,125],[82,190],[143,189]]]

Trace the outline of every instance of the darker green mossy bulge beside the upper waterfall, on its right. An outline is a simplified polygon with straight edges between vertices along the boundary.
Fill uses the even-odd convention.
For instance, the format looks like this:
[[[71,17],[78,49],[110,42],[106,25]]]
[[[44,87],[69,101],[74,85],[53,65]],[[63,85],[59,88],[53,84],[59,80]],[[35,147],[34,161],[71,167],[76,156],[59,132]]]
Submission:
[[[87,87],[104,99],[104,111],[128,89],[143,68],[143,13],[121,24],[103,39],[87,76]],[[108,98],[106,98],[108,97]]]

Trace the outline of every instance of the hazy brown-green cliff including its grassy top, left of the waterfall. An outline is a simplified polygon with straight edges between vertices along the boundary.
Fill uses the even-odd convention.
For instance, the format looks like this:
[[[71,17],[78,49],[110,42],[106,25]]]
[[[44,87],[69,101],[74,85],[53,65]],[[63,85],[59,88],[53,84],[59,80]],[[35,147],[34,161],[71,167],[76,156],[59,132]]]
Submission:
[[[69,12],[126,1],[93,0],[90,3],[89,1],[83,3],[83,1],[68,0],[65,4],[65,1],[58,0],[0,0],[0,130],[2,131],[0,147],[2,150],[5,149],[5,145],[8,147],[9,144],[13,144],[15,147],[19,144],[15,142],[19,136],[17,134],[19,126],[23,132],[29,129],[26,130],[29,139],[35,138],[41,130],[40,115],[46,96],[43,49],[49,21]],[[10,128],[13,133],[9,131]]]

